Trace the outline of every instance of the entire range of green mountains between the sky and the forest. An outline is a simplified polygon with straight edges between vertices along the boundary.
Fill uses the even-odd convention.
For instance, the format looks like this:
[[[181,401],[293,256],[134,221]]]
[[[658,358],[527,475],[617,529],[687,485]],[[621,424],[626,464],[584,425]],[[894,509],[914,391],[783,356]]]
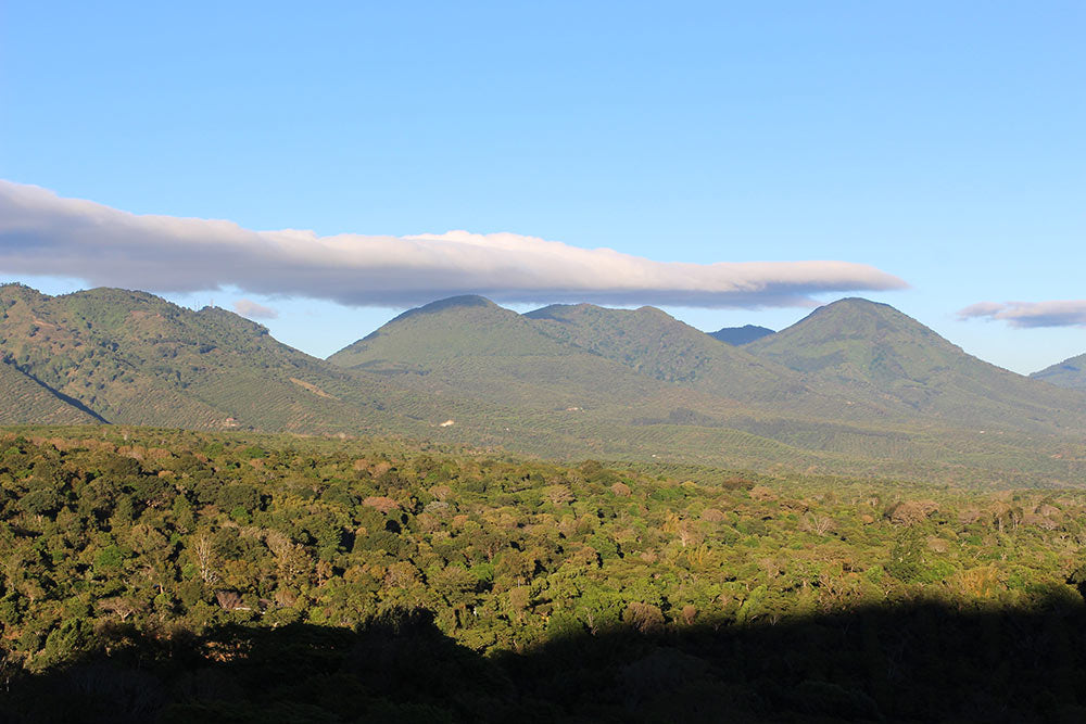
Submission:
[[[1070,389],[1081,378],[1009,372],[866,300],[733,344],[653,307],[521,315],[462,296],[327,360],[232,313],[143,292],[7,284],[0,315],[4,424],[393,434],[560,458],[978,482],[1066,482],[1086,469],[1086,391]]]

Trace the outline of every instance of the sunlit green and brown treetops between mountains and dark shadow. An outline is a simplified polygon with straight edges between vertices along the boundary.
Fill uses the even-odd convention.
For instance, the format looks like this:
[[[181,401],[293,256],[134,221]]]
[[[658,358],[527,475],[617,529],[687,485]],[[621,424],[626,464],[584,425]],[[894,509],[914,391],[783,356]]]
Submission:
[[[457,656],[496,665],[564,640],[735,636],[856,611],[1079,611],[1084,506],[1079,491],[685,478],[396,441],[13,429],[0,432],[2,675],[34,690],[117,648],[118,632],[168,648],[425,614]],[[195,650],[217,661],[209,646]],[[816,684],[877,710],[873,683],[835,675],[851,674]]]

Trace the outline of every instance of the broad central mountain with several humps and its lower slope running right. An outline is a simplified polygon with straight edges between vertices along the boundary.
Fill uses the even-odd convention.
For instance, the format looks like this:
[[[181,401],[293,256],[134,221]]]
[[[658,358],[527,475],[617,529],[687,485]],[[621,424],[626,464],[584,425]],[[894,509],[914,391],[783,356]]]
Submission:
[[[1013,420],[1006,434],[986,436],[888,395],[857,395],[847,380],[759,361],[652,308],[521,316],[455,297],[401,315],[329,361],[479,405],[450,420],[444,440],[545,456],[880,477],[924,470],[1003,484],[1064,480],[1082,467],[1081,441],[1031,440]]]

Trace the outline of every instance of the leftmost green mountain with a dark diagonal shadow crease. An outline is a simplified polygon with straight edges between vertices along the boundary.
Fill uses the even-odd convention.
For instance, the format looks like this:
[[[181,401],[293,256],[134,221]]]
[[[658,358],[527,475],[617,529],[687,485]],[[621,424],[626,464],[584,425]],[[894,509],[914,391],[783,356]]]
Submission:
[[[5,421],[313,432],[390,417],[379,380],[337,370],[223,309],[117,289],[53,297],[17,284],[0,287],[0,389],[23,401]]]

